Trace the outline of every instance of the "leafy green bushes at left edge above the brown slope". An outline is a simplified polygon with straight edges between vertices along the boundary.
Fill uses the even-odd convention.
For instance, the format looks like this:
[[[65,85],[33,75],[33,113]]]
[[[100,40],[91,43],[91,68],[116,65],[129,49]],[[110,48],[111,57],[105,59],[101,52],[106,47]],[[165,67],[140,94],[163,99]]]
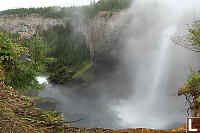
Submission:
[[[1,80],[20,91],[41,88],[36,77],[45,69],[47,44],[38,36],[24,40],[0,31]],[[29,59],[28,59],[29,58]]]

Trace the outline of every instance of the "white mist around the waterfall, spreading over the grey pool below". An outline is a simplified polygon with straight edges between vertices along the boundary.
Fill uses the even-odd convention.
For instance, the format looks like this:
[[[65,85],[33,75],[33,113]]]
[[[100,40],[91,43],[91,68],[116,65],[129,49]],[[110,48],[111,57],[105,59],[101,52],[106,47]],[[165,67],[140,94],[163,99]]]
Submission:
[[[134,0],[113,18],[119,25],[123,48],[114,72],[74,90],[48,84],[40,96],[61,104],[72,126],[87,128],[176,128],[185,123],[186,102],[177,91],[189,74],[199,69],[199,56],[175,45],[171,36],[187,34],[187,24],[199,19],[198,0]],[[120,55],[118,55],[118,54]]]

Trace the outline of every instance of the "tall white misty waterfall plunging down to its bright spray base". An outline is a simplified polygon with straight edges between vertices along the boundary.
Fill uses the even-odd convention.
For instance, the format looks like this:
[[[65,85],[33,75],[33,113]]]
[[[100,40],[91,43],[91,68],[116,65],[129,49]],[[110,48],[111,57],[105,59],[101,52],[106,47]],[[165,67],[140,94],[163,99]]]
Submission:
[[[184,124],[184,99],[176,95],[188,66],[198,68],[197,55],[175,46],[170,36],[187,33],[199,19],[197,0],[135,0],[123,19],[124,64],[132,74],[132,95],[114,107],[124,125],[172,128]]]

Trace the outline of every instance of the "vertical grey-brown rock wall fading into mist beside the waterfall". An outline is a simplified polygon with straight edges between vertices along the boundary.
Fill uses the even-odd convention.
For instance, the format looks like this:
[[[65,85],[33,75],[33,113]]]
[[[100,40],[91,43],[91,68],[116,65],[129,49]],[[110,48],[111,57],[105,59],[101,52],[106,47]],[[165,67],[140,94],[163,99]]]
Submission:
[[[105,14],[107,13],[101,12],[80,28],[83,30],[86,43],[90,49],[91,61],[94,61],[99,56],[110,54],[119,43],[117,35],[119,26],[113,23],[113,18],[116,15]]]

